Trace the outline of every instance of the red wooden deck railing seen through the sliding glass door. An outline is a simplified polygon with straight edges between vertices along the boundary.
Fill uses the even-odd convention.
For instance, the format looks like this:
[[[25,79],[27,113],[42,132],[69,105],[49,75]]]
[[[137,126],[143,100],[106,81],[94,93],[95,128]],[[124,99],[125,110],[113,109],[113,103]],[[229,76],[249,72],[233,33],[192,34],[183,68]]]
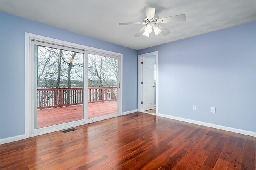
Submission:
[[[38,88],[37,109],[83,104],[83,88]],[[117,100],[117,87],[88,87],[88,103]]]

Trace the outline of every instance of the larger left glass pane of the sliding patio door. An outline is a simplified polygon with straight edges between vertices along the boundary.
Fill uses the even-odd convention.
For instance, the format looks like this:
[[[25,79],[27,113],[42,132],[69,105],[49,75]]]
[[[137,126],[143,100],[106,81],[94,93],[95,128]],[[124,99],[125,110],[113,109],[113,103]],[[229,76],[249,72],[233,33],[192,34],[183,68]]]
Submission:
[[[35,46],[36,129],[83,119],[83,53]]]

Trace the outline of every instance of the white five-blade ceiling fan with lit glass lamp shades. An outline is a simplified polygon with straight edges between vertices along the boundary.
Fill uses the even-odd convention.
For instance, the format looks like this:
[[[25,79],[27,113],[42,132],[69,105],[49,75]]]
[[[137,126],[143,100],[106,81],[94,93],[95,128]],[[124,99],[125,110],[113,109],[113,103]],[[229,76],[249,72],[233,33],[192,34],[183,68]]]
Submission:
[[[140,35],[145,35],[149,37],[149,34],[152,32],[152,29],[155,32],[155,35],[162,34],[162,35],[168,35],[171,33],[168,29],[162,27],[159,25],[160,23],[167,23],[167,22],[173,22],[173,21],[186,21],[186,15],[180,14],[177,16],[169,16],[165,18],[160,18],[156,14],[156,9],[152,7],[144,7],[144,10],[146,12],[147,18],[145,18],[142,22],[126,22],[126,23],[119,23],[119,25],[130,25],[130,24],[141,24],[146,25],[140,31],[138,31],[134,37],[139,37]]]

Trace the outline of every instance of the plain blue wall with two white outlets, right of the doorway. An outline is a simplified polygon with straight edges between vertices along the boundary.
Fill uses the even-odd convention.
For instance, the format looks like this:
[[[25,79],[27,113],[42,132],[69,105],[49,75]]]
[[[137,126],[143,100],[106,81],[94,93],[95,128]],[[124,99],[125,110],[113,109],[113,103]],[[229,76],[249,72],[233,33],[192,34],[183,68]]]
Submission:
[[[256,22],[138,54],[152,51],[158,51],[159,113],[256,132]]]

